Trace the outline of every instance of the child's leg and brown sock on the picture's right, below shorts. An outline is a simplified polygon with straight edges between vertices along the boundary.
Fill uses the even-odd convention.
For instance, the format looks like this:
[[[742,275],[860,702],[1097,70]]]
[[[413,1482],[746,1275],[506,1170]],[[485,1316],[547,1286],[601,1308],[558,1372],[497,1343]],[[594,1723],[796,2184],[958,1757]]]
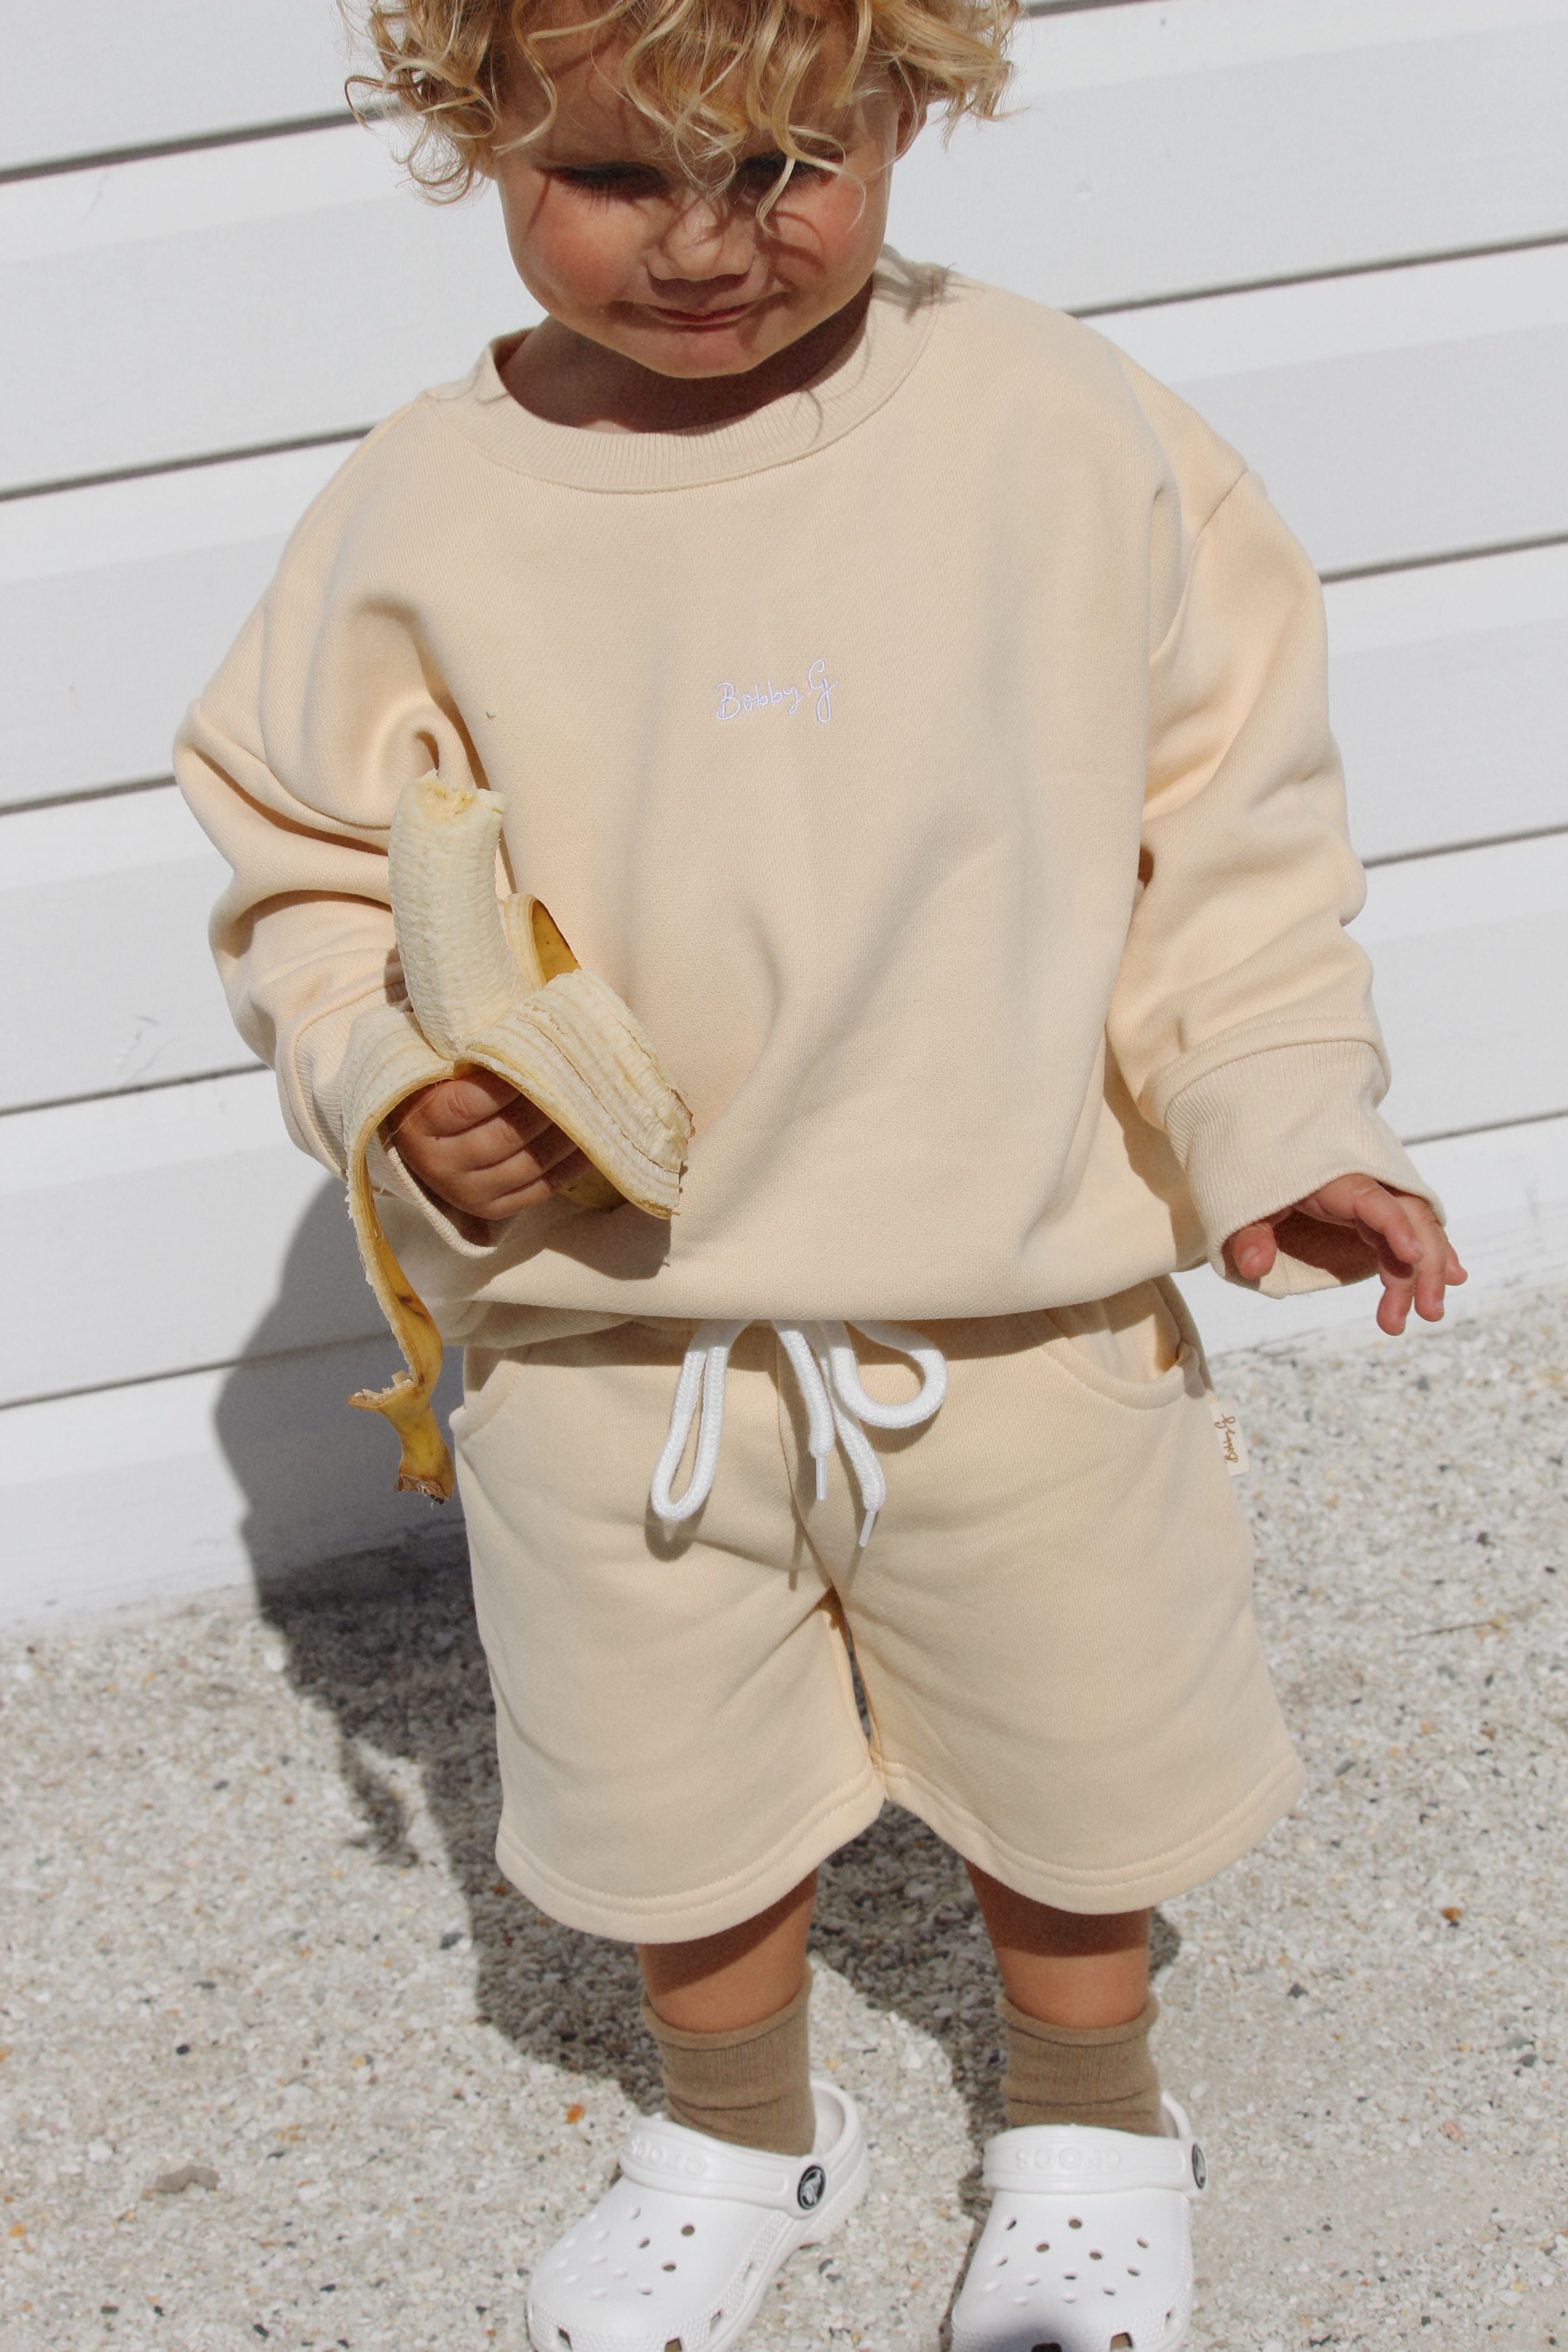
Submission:
[[[1150,1912],[1063,1912],[969,1865],[1001,1973],[1009,2126],[1159,2133]]]

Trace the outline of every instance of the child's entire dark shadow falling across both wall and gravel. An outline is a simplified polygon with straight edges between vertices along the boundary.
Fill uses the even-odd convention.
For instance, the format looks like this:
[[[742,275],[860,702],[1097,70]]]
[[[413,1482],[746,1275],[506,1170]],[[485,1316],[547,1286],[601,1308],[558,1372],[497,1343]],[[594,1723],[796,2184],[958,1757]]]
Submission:
[[[329,1188],[254,1334],[254,1348],[273,1357],[275,1385],[289,1381],[277,1352],[301,1345],[296,1334],[320,1312],[327,1287],[346,1279],[362,1277],[341,1195]],[[334,1298],[343,1329],[346,1298]],[[454,1369],[447,1411],[456,1404]],[[261,1609],[287,1642],[294,1686],[336,1722],[343,1778],[388,1870],[418,1863],[393,1785],[395,1766],[416,1769],[468,1903],[480,2016],[531,2058],[614,2077],[637,2107],[654,2107],[658,2074],[637,2020],[632,1950],[557,1926],[496,1870],[494,1710],[461,1519],[456,1505],[437,1515],[416,1496],[393,1496],[390,1432],[343,1404],[348,1388],[381,1385],[388,1371],[374,1341],[334,1348],[327,1369],[320,1352],[301,1357],[282,1421],[277,1411],[256,1416],[252,1371],[226,1390],[219,1430],[249,1498]],[[994,1966],[973,1924],[959,1858],[889,1806],[823,1870],[813,1940],[872,2006],[896,2009],[943,2042],[976,2138],[985,2138],[1001,2124],[1001,2056]],[[1175,1931],[1157,1919],[1157,1964],[1175,1947]]]

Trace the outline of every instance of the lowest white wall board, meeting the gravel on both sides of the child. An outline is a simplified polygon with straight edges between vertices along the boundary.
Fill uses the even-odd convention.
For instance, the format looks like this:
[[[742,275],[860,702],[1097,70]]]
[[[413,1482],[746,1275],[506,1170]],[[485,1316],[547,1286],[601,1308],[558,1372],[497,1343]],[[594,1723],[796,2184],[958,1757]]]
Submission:
[[[1418,1160],[1472,1268],[1453,1312],[1509,1282],[1568,1275],[1568,1120],[1462,1136]],[[1427,1331],[1380,1341],[1373,1284],[1274,1301],[1201,1270],[1182,1275],[1182,1289],[1211,1355],[1324,1329],[1408,1350]],[[268,1573],[371,1545],[444,1557],[461,1543],[458,1505],[393,1494],[388,1432],[343,1404],[393,1364],[386,1341],[355,1341],[0,1411],[0,1618],[266,1585]],[[437,1409],[456,1402],[454,1352]]]

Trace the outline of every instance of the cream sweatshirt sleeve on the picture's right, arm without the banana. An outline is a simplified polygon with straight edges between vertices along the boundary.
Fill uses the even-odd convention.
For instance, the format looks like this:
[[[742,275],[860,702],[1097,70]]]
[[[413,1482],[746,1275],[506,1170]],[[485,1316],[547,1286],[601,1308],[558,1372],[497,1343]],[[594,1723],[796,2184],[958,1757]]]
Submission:
[[[1171,1138],[1218,1272],[1239,1225],[1333,1176],[1434,1200],[1378,1115],[1387,1056],[1371,964],[1345,929],[1363,896],[1328,734],[1321,588],[1258,475],[1239,473],[1192,539],[1152,659],[1140,894],[1110,1011],[1112,1051]],[[1260,1287],[1371,1272],[1352,1235],[1298,1218]]]

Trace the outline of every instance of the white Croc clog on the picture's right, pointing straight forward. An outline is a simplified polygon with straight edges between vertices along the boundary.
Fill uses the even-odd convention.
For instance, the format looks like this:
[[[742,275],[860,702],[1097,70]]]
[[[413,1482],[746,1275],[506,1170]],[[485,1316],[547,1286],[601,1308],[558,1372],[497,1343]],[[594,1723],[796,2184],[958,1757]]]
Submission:
[[[952,2307],[952,2352],[1175,2352],[1192,2321],[1204,2150],[1173,2098],[1166,2138],[1030,2124],[985,2145],[994,2201]]]

